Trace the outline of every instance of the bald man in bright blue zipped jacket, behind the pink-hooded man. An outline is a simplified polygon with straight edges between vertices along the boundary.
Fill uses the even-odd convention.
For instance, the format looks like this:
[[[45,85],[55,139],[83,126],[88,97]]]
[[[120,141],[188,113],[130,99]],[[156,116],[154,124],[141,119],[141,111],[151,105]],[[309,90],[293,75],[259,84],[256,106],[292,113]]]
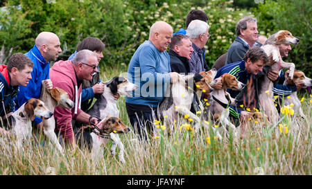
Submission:
[[[49,62],[57,60],[61,52],[60,39],[55,33],[42,32],[36,37],[35,45],[31,48],[31,51],[25,54],[34,65],[31,72],[32,79],[29,80],[26,87],[19,87],[17,109],[29,98],[40,98],[42,80],[44,80],[47,89],[52,89],[53,84],[49,80]],[[35,124],[40,122],[40,119],[35,119]]]

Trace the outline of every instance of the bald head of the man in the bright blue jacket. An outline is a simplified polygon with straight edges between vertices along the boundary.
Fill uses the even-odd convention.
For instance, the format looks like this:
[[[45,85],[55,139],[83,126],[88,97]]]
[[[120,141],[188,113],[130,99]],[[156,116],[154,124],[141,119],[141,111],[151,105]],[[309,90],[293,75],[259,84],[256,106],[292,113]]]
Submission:
[[[46,62],[55,61],[62,52],[58,35],[51,32],[42,32],[35,39],[35,45]]]

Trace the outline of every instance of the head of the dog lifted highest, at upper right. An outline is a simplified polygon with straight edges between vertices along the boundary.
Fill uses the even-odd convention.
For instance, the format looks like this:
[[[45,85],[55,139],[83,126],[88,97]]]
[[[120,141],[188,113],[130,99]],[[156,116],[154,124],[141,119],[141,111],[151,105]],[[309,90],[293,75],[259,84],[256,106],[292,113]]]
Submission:
[[[288,30],[279,30],[277,33],[271,35],[265,44],[298,44],[299,39],[293,37]]]

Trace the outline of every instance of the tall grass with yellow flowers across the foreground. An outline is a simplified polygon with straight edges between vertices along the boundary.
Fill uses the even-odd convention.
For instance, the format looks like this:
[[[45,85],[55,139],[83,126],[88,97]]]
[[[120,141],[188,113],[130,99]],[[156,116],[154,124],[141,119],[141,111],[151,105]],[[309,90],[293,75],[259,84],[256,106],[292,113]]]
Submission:
[[[125,71],[119,66],[106,69],[102,80]],[[182,123],[176,124],[172,136],[163,131],[164,127],[157,128],[157,134],[147,143],[137,141],[130,132],[121,136],[125,146],[123,165],[118,156],[110,154],[110,143],[103,157],[96,160],[86,149],[67,147],[62,155],[35,138],[19,150],[11,145],[14,138],[1,136],[0,174],[311,174],[311,99],[304,94],[306,119],[298,119],[297,132],[293,131],[295,121],[288,116],[281,123],[250,130],[237,139],[230,135],[220,140],[212,129],[193,133],[189,127],[181,127]],[[130,126],[124,97],[118,106],[123,123]],[[279,128],[279,124],[287,129]]]

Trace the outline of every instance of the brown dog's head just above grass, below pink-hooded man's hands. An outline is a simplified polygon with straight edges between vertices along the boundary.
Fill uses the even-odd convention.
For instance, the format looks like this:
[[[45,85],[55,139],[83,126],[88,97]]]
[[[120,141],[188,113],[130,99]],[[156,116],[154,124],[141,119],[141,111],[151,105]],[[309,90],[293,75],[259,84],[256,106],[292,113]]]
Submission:
[[[117,134],[125,134],[130,132],[130,128],[121,122],[120,118],[108,117],[103,120],[102,131],[109,134],[116,132]]]

